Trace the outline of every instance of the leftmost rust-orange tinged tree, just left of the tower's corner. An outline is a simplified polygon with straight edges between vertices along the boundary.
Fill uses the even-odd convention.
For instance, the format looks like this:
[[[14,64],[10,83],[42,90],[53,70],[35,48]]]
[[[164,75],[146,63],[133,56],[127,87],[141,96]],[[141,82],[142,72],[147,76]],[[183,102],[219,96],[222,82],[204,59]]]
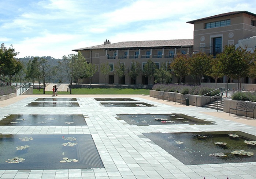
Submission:
[[[183,78],[189,73],[188,59],[186,55],[177,54],[177,57],[171,63],[170,68],[172,69],[174,75],[179,78],[179,82],[182,82]]]

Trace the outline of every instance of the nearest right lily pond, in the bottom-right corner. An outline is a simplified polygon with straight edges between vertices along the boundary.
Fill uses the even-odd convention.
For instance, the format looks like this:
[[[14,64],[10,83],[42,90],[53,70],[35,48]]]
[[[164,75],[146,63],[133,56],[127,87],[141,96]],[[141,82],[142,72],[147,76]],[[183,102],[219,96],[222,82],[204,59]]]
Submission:
[[[256,136],[240,131],[144,133],[185,165],[256,162]]]

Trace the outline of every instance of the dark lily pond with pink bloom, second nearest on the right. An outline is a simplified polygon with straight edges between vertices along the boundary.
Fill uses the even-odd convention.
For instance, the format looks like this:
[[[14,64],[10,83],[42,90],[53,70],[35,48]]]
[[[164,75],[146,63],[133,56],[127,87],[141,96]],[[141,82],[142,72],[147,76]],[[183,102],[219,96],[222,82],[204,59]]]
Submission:
[[[185,114],[118,114],[117,116],[118,120],[124,120],[130,125],[138,126],[168,124],[213,124],[211,121],[194,118]]]

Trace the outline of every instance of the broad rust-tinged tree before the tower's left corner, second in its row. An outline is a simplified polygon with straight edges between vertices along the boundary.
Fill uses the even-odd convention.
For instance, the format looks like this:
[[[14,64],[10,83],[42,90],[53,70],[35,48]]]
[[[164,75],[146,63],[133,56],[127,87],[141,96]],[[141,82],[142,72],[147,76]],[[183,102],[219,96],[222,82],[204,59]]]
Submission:
[[[201,52],[193,54],[189,58],[189,74],[194,77],[199,77],[199,85],[201,84],[203,75],[206,75],[208,73],[212,59],[212,55],[207,55]]]

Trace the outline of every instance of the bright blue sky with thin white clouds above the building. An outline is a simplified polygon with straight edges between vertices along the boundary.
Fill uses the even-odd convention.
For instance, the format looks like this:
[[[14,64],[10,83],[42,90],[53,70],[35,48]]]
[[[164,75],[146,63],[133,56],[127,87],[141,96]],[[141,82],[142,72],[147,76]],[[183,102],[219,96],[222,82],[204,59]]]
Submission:
[[[0,0],[0,43],[18,58],[140,40],[193,39],[193,24],[220,13],[256,13],[256,0]]]

